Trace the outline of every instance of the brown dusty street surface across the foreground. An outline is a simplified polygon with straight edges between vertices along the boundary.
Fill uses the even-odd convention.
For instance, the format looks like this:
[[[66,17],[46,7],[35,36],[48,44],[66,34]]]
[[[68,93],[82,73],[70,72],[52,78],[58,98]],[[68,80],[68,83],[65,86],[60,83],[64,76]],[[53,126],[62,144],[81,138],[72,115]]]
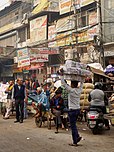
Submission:
[[[83,140],[71,147],[70,131],[55,134],[54,127],[37,128],[34,118],[14,124],[14,118],[3,120],[0,115],[0,152],[114,152],[114,127],[101,135],[92,135],[84,123],[78,128]]]

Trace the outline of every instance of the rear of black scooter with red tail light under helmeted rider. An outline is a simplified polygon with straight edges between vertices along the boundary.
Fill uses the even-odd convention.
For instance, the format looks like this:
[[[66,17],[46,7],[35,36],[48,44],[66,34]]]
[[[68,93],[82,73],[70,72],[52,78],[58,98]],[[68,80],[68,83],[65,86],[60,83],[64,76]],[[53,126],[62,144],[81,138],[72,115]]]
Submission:
[[[104,114],[100,108],[90,108],[87,112],[87,126],[93,134],[103,130]]]

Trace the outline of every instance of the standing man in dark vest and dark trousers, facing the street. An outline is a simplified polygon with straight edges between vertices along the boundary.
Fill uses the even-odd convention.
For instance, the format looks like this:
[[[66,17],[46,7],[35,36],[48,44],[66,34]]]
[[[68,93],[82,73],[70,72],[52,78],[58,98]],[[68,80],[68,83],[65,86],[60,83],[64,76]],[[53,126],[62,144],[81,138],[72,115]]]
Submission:
[[[17,84],[15,84],[13,88],[13,99],[15,99],[16,106],[16,121],[14,121],[14,123],[23,123],[25,94],[26,90],[23,81],[21,78],[18,78]]]

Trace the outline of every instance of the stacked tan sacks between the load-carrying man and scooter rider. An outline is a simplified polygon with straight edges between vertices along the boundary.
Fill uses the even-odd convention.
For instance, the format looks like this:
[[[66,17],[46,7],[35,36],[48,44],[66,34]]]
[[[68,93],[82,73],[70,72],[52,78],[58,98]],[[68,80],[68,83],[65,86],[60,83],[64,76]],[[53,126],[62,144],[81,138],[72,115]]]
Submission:
[[[90,92],[94,89],[94,85],[92,83],[84,83],[83,84],[83,91],[80,96],[80,106],[81,109],[87,109],[90,105],[88,101],[88,96]]]

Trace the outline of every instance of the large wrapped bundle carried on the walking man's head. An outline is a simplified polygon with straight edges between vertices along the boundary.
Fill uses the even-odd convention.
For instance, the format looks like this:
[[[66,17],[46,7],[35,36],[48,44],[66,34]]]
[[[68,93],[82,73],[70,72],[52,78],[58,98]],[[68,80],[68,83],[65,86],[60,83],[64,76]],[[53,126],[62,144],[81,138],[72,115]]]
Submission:
[[[92,73],[87,69],[86,64],[67,60],[65,65],[62,67],[64,71],[64,79],[76,80],[84,82],[86,77],[91,77]]]

